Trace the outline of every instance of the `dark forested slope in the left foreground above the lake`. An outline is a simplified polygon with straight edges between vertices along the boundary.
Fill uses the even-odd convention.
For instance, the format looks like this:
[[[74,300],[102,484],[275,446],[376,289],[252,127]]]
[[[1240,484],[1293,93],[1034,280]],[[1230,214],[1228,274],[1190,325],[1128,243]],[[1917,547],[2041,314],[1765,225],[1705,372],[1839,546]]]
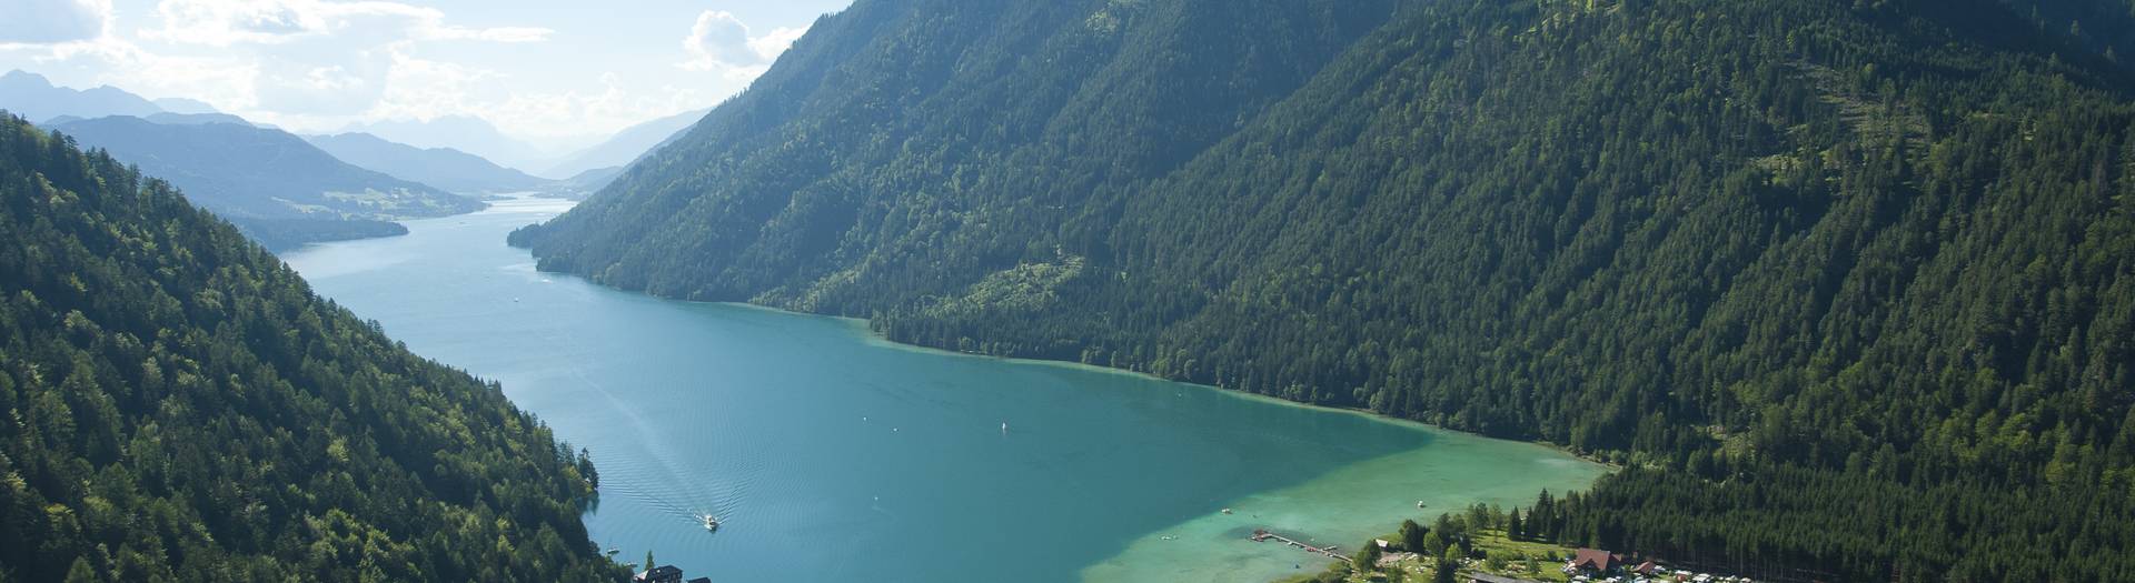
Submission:
[[[591,463],[160,179],[0,117],[0,581],[615,581]]]

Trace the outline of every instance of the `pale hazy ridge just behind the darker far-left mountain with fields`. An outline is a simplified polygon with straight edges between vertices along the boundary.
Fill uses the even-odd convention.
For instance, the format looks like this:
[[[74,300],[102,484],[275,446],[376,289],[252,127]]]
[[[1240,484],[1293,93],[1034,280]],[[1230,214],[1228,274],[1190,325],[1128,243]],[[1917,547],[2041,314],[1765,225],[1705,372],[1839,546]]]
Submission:
[[[453,147],[414,147],[365,132],[305,137],[305,141],[344,162],[455,194],[523,192],[555,186],[553,179],[497,167],[483,156]]]

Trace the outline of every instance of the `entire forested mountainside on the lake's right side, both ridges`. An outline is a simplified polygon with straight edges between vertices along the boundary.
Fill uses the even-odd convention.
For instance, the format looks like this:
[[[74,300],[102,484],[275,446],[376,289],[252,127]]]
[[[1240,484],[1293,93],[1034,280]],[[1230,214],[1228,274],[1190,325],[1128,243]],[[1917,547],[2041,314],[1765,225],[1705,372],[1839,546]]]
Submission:
[[[2126,2],[1328,6],[863,0],[515,243],[1627,463],[1567,542],[2135,572]]]

